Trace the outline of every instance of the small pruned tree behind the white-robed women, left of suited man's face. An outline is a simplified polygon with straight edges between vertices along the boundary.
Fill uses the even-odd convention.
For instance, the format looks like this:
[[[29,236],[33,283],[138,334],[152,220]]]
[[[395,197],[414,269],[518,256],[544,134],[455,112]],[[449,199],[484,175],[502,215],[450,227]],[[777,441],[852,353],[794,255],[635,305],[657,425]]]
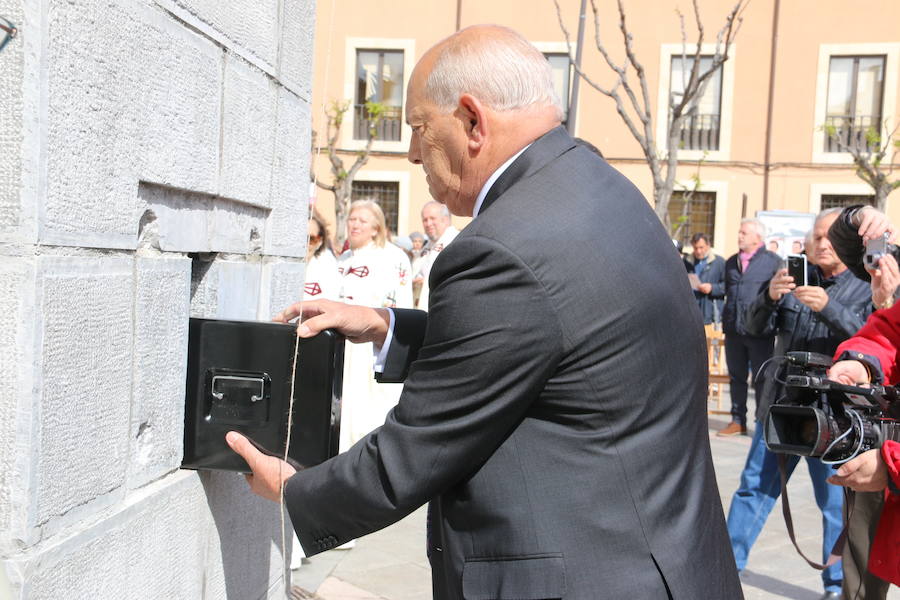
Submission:
[[[347,217],[350,211],[350,200],[353,195],[353,179],[361,168],[368,162],[369,154],[372,152],[372,144],[378,135],[378,124],[384,116],[384,105],[378,102],[366,102],[365,116],[367,119],[366,129],[366,145],[362,150],[356,151],[356,159],[350,168],[344,168],[344,159],[341,157],[341,151],[338,149],[340,141],[341,126],[344,123],[344,116],[350,109],[350,102],[345,100],[333,101],[325,110],[327,119],[325,125],[325,152],[328,154],[328,160],[331,162],[331,183],[323,183],[316,180],[316,185],[323,190],[328,190],[334,194],[334,222],[335,222],[335,241],[337,245],[343,246],[347,239]],[[316,138],[316,132],[313,132],[313,140]]]

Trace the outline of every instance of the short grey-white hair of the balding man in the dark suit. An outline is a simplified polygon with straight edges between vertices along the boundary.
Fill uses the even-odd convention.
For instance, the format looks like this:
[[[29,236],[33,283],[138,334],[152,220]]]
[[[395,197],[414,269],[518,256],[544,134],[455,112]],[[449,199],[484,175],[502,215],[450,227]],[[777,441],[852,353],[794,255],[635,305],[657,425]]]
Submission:
[[[518,32],[495,27],[505,35],[460,40],[457,34],[445,42],[425,82],[425,98],[446,111],[467,93],[500,112],[552,106],[562,120],[550,63]]]

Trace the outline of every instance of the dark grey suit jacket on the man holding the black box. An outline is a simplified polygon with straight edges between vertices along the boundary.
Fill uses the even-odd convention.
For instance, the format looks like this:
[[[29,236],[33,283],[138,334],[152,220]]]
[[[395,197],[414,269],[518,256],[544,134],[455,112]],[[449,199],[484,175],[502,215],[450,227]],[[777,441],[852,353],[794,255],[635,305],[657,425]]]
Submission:
[[[637,189],[555,129],[430,285],[427,317],[395,311],[384,426],[286,486],[304,549],[431,501],[437,598],[740,598],[702,320]]]

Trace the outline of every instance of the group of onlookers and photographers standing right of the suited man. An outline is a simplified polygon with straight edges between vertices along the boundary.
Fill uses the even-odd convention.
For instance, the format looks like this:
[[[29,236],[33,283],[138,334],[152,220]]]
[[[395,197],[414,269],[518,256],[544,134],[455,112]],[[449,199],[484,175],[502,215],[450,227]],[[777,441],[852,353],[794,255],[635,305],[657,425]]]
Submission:
[[[863,326],[873,312],[883,313],[893,305],[900,276],[890,255],[881,259],[877,269],[867,271],[862,261],[863,241],[882,235],[888,227],[886,217],[872,207],[822,211],[806,237],[805,247],[793,248],[806,257],[806,282],[795,282],[782,260],[764,246],[765,226],[756,219],[741,222],[739,251],[727,261],[712,254],[705,234],[696,234],[691,239],[693,253],[685,263],[694,274],[691,278],[694,295],[707,324],[716,323],[722,315],[725,333],[732,420],[717,435],[748,433],[748,374],[753,376],[756,392],[753,438],[727,518],[738,570],[746,566],[750,549],[782,490],[778,458],[763,439],[767,411],[785,394],[784,362],[778,357],[805,351],[841,359],[849,356],[849,348],[869,347],[858,336],[867,333],[872,336],[875,326]],[[884,329],[885,318],[877,314],[874,322],[881,323]],[[880,341],[884,337],[882,334],[875,339]],[[872,372],[880,372],[881,364],[872,355],[890,356],[889,364],[893,364],[896,360],[893,348],[863,353],[869,356]],[[832,376],[837,378],[848,372],[848,367],[838,362]],[[883,381],[883,376],[880,377]],[[868,369],[858,366],[852,375],[844,375],[844,379],[845,383],[857,385],[870,381],[871,377]],[[895,456],[898,451],[896,444],[887,443],[883,457]],[[785,480],[790,478],[798,462],[799,456],[785,457]],[[869,550],[880,520],[888,479],[884,478],[880,489],[860,489],[853,494],[848,501],[853,510],[849,511],[849,535],[842,560],[835,556],[829,561],[845,523],[844,493],[834,484],[846,485],[846,480],[819,458],[806,457],[806,463],[815,500],[822,512],[823,600],[884,598],[888,582],[900,579],[897,553],[893,552],[893,558],[886,560],[884,551],[879,552],[876,546],[870,563]],[[885,563],[891,566],[886,567]]]

